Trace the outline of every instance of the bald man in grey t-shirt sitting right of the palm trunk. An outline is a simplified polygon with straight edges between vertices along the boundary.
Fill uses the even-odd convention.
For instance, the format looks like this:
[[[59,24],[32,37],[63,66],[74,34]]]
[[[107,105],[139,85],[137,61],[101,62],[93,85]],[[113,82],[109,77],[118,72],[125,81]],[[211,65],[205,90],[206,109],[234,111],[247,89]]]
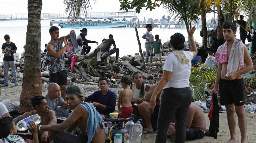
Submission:
[[[67,102],[61,97],[61,88],[57,83],[50,83],[47,87],[48,93],[44,96],[48,103],[48,109],[54,110],[56,112],[56,116],[61,118],[67,118],[69,116],[68,113],[68,105]],[[61,107],[58,107],[61,106]]]

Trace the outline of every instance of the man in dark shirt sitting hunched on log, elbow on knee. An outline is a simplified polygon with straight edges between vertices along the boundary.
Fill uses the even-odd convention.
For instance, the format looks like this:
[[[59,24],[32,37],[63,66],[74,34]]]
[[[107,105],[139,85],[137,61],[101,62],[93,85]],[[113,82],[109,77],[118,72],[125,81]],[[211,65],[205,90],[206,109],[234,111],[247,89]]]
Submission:
[[[115,40],[114,40],[114,37],[112,34],[110,34],[108,36],[108,45],[107,47],[102,51],[103,53],[105,52],[110,52],[110,55],[116,53],[116,62],[118,62],[118,56],[119,56],[119,48],[116,48],[116,43],[115,43]],[[102,42],[104,41],[104,39],[102,40]],[[113,48],[110,50],[111,46],[113,44]]]

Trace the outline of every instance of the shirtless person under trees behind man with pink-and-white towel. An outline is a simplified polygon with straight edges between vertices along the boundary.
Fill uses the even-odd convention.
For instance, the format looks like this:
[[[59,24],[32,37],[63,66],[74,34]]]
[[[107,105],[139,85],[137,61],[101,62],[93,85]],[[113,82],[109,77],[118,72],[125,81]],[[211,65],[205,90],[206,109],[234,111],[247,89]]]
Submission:
[[[215,29],[215,31],[213,31],[211,34],[208,35],[208,37],[209,36],[213,36],[217,32],[217,39],[216,39],[216,41],[212,45],[212,47],[214,49],[214,53],[216,53],[218,47],[225,42],[224,36],[223,36],[223,32],[222,32],[223,22],[224,22],[224,20],[221,19],[219,24],[218,24],[218,26],[217,26],[217,28]]]

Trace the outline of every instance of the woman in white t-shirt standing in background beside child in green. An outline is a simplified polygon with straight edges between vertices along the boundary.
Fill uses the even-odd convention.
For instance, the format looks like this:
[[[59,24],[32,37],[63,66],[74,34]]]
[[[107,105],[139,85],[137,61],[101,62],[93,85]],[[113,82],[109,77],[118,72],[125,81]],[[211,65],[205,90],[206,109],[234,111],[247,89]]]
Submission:
[[[143,39],[146,39],[145,42],[145,48],[146,48],[146,57],[145,62],[148,63],[148,59],[150,63],[153,63],[153,48],[152,43],[154,41],[154,36],[151,34],[150,31],[152,31],[152,25],[147,24],[146,25],[147,32],[142,36]]]

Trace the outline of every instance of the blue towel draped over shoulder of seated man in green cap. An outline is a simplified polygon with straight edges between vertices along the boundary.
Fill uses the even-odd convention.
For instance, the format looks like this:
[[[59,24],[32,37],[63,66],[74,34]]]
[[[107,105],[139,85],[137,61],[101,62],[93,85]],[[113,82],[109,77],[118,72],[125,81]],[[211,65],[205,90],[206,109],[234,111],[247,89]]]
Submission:
[[[95,133],[98,131],[98,123],[104,128],[104,121],[98,111],[89,103],[80,103],[81,106],[88,112],[88,118],[86,123],[86,133],[88,136],[87,143],[90,143]]]

